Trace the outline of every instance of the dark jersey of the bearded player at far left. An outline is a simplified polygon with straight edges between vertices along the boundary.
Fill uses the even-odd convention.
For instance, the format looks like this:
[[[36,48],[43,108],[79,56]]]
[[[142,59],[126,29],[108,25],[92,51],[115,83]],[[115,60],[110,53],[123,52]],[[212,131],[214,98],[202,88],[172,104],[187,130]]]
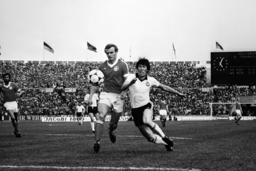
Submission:
[[[18,90],[19,87],[13,82],[9,82],[8,86],[0,85],[0,92],[3,92],[4,102],[16,101],[16,92]]]

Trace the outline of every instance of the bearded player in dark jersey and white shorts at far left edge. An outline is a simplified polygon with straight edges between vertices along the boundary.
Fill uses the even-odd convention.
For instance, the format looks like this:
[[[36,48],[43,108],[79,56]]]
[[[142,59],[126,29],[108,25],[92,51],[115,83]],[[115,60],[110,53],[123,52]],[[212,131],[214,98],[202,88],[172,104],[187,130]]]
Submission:
[[[23,93],[19,87],[11,82],[11,74],[5,73],[3,75],[4,83],[0,85],[0,92],[4,96],[4,107],[7,114],[11,117],[11,122],[14,127],[14,135],[16,138],[21,138],[21,133],[18,129],[18,104],[16,102],[16,97],[21,96]]]

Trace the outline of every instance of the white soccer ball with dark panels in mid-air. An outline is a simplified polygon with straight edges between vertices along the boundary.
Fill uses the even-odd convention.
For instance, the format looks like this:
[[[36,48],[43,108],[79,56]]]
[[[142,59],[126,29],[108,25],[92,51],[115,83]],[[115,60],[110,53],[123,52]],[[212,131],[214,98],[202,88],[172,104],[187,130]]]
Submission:
[[[99,86],[104,82],[104,74],[99,70],[91,70],[88,74],[88,82],[92,86]]]

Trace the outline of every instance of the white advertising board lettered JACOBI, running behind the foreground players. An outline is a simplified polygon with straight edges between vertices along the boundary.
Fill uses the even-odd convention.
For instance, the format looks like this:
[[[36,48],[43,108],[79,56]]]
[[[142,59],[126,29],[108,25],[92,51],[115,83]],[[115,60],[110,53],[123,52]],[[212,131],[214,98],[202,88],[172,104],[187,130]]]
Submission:
[[[110,116],[107,116],[105,121],[110,121]],[[130,116],[121,116],[119,121],[128,121],[130,119]],[[90,117],[82,117],[82,120],[84,122],[90,122]],[[42,122],[76,122],[76,117],[41,117]],[[96,118],[94,117],[94,121],[96,121]]]

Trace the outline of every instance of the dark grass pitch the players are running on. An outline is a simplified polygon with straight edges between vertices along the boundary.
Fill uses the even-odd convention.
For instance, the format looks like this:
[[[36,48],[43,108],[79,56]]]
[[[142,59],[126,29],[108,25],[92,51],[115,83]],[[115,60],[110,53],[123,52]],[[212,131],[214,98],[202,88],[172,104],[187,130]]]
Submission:
[[[0,170],[255,170],[256,122],[156,123],[175,142],[174,151],[142,137],[133,122],[119,122],[115,144],[105,122],[99,153],[89,122],[0,123]]]

